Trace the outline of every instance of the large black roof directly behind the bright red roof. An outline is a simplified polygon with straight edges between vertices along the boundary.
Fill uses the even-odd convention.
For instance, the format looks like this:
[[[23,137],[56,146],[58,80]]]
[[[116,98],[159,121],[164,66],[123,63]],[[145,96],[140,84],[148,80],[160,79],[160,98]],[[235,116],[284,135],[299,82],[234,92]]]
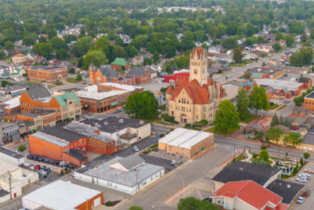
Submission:
[[[244,180],[253,180],[254,182],[264,185],[270,177],[280,172],[279,169],[266,167],[258,164],[237,161],[225,167],[221,172],[213,177],[216,182],[237,182]]]

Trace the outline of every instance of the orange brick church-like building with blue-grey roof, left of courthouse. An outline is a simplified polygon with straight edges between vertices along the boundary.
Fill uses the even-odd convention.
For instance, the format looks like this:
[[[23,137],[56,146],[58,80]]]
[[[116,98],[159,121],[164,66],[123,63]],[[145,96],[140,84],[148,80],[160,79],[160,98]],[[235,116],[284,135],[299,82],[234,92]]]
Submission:
[[[93,63],[88,68],[89,84],[95,85],[100,83],[120,83],[126,85],[133,85],[133,78],[126,78],[118,71],[113,70],[111,65],[101,65],[101,68],[96,68]]]

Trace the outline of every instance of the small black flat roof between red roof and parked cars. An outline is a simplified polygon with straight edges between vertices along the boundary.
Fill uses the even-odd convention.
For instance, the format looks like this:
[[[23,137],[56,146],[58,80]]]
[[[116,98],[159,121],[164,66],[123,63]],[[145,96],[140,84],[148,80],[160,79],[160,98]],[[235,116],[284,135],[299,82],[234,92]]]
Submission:
[[[295,196],[298,195],[299,191],[303,189],[303,184],[295,182],[288,182],[281,179],[275,179],[275,181],[268,184],[267,189],[273,191],[278,196],[283,197],[284,204],[291,204]]]

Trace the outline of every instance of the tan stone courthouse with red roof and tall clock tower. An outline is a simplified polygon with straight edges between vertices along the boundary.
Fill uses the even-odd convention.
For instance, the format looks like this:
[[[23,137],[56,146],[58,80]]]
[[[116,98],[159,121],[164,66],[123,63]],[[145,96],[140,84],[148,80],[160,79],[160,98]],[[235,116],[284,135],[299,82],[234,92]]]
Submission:
[[[226,96],[221,84],[208,78],[206,51],[201,47],[190,55],[190,80],[178,79],[173,90],[168,86],[166,107],[176,121],[193,123],[213,122],[218,103]]]

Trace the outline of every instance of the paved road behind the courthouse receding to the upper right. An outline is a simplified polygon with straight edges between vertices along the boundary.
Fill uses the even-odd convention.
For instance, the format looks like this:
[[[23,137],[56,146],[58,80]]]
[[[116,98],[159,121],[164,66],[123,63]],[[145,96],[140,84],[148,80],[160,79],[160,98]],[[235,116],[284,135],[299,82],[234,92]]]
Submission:
[[[298,51],[299,48],[300,45],[295,46],[295,48],[290,48],[289,51],[295,52]],[[231,70],[231,72],[226,73],[224,75],[214,75],[213,79],[216,80],[218,83],[226,82],[226,77],[228,77],[228,80],[234,80],[238,78],[238,76],[242,75],[242,73],[248,70],[249,68],[260,67],[261,65],[263,65],[263,62],[268,63],[270,59],[278,59],[280,58],[280,56],[283,56],[283,54],[284,52],[276,53],[273,56],[270,56],[269,58],[260,58],[257,62],[251,63],[249,65],[245,65],[242,67],[233,67],[233,70]]]

